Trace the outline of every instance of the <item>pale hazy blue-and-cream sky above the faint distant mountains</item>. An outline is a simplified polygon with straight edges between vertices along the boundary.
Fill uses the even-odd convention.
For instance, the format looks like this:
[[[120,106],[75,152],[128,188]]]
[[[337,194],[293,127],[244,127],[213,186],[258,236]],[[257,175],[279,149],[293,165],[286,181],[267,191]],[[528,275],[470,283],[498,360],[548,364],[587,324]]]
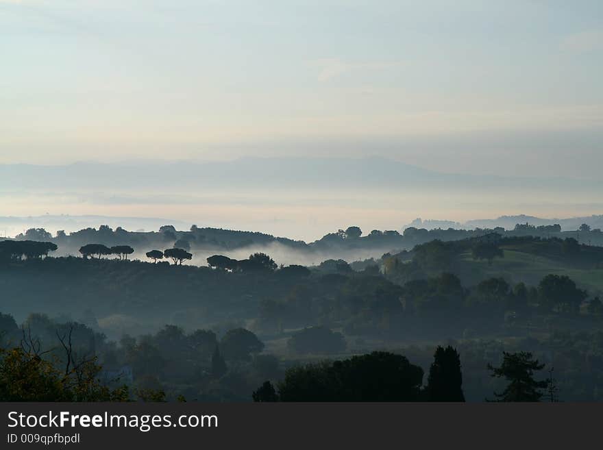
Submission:
[[[601,178],[602,69],[600,0],[0,0],[1,160]]]

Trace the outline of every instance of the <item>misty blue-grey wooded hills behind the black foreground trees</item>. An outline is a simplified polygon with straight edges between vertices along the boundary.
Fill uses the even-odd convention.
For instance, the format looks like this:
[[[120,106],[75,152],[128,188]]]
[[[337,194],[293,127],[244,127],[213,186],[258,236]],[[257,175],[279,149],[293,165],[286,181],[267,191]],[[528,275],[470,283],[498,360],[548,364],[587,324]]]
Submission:
[[[284,265],[261,252],[240,259],[217,252],[197,266],[191,262],[207,230],[163,227],[131,234],[101,227],[58,238],[30,230],[0,242],[3,346],[23,350],[25,342],[26,353],[10,353],[17,360],[42,349],[61,360],[62,338],[73,333],[76,353],[96,364],[89,368],[99,389],[110,388],[95,391],[105,399],[125,395],[110,381],[119,374],[127,395],[143,399],[250,400],[251,392],[264,400],[339,398],[328,397],[339,392],[334,386],[325,388],[327,397],[299,391],[306,377],[334,370],[320,365],[325,358],[347,361],[387,350],[406,355],[422,374],[434,346],[443,344],[460,355],[469,401],[482,401],[500,387],[487,364],[500,363],[504,351],[529,351],[554,366],[564,399],[599,398],[603,247],[575,238],[521,236],[519,230],[470,238],[456,230],[406,231],[362,238],[360,229],[349,227],[323,244],[283,242],[312,251],[324,242],[350,247],[371,239],[451,239],[352,262]],[[34,237],[49,241],[26,239]],[[81,243],[79,257],[55,256],[61,242]],[[149,242],[156,249],[140,260],[137,246]],[[352,372],[341,376],[356,376],[354,371],[365,370],[362,364],[397,361],[388,358],[349,360]],[[310,365],[300,372],[298,364]],[[422,376],[412,388],[399,386],[401,398],[429,398],[433,388]],[[64,395],[77,395],[64,388]],[[336,395],[345,398],[345,389]]]

